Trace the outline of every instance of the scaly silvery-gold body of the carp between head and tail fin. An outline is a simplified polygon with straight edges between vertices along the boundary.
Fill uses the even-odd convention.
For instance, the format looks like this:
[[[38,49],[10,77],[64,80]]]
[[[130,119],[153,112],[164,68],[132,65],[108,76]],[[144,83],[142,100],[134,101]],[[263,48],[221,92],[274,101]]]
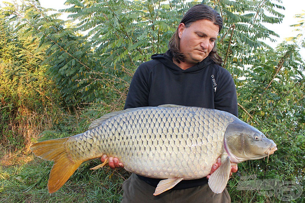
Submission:
[[[137,117],[137,114],[141,116]],[[137,114],[133,111],[120,114],[74,136],[67,145],[74,153],[72,157],[91,159],[107,154],[120,159],[131,173],[152,178],[197,179],[210,173],[210,167],[222,152],[226,125],[234,120],[226,112],[217,114],[215,110],[199,107],[178,110],[152,107],[138,110]],[[217,116],[224,122],[222,125],[214,122],[211,126],[208,119]],[[84,140],[96,144],[86,145],[84,149],[81,147]],[[97,143],[97,140],[103,142]],[[180,170],[168,170],[174,165]],[[198,166],[205,167],[197,171]]]

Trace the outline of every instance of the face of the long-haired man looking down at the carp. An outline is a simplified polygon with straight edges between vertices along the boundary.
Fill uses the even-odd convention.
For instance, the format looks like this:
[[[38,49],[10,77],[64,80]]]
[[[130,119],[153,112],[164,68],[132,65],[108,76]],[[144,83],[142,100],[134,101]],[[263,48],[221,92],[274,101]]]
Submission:
[[[218,31],[219,27],[207,19],[197,20],[189,27],[180,23],[178,33],[180,51],[185,55],[184,63],[193,66],[205,59],[214,47]]]

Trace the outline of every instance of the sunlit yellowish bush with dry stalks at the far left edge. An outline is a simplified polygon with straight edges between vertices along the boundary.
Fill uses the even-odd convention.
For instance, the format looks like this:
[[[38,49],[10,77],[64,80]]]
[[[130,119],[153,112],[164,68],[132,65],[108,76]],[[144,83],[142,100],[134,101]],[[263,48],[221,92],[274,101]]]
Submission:
[[[51,114],[59,113],[59,103],[54,104],[56,88],[46,79],[45,50],[37,51],[38,39],[20,39],[23,30],[15,32],[3,18],[0,33],[0,144],[22,149],[52,128],[56,118]]]

